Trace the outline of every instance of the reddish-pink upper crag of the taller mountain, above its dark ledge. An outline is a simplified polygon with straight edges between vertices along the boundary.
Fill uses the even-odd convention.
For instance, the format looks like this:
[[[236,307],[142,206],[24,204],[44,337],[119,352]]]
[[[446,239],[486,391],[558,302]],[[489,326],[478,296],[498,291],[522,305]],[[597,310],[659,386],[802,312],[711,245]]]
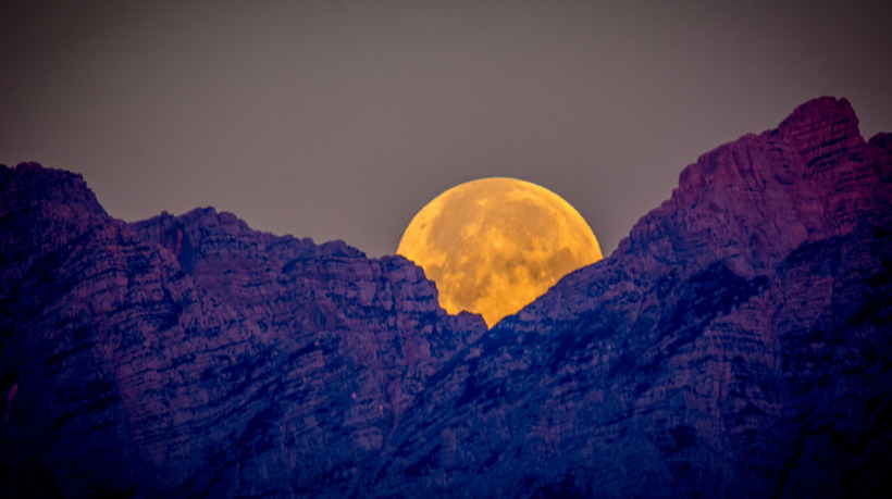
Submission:
[[[692,269],[729,260],[755,275],[804,242],[851,232],[865,216],[882,222],[888,210],[877,190],[890,185],[877,163],[888,152],[866,147],[857,125],[847,100],[823,97],[778,128],[703,154],[617,252]]]

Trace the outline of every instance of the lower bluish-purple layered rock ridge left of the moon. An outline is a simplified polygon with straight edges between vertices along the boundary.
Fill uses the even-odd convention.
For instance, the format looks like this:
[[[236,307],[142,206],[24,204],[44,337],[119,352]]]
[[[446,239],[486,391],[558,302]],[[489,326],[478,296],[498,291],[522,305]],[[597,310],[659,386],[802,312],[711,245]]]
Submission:
[[[210,209],[127,225],[36,165],[2,185],[4,497],[342,495],[485,330],[401,258]]]

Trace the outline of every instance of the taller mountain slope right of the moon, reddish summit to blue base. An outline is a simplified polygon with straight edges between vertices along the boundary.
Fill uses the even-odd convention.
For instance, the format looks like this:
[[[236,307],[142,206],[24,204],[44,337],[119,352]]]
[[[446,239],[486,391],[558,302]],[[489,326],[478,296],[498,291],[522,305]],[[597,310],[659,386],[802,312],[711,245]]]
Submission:
[[[438,373],[368,484],[880,490],[892,471],[891,149],[889,135],[864,142],[847,102],[820,99],[705,154],[610,258]]]

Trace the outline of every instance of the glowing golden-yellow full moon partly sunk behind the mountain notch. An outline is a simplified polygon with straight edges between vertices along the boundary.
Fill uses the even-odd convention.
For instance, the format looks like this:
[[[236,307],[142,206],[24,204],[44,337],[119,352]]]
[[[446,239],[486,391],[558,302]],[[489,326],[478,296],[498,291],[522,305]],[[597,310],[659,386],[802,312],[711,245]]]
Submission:
[[[434,198],[409,223],[396,252],[424,269],[447,312],[479,313],[490,326],[602,259],[573,207],[544,187],[504,177]]]

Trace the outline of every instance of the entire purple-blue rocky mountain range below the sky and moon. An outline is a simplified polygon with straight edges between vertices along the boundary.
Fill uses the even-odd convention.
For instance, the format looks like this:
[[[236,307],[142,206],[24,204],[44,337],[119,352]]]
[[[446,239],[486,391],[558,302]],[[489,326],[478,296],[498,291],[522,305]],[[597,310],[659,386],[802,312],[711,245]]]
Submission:
[[[876,495],[892,136],[845,100],[685,169],[486,330],[420,269],[0,167],[0,494]]]

